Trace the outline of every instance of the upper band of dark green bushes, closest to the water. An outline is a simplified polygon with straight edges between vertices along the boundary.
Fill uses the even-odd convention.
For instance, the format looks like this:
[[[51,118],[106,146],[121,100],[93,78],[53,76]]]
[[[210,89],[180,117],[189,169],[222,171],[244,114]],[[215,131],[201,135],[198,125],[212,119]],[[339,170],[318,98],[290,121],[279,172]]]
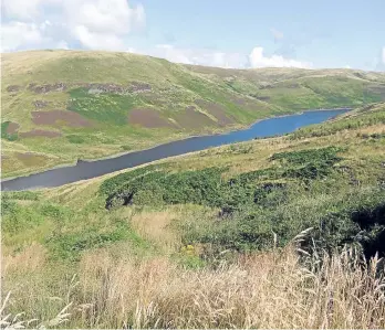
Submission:
[[[273,183],[284,178],[314,180],[324,178],[342,158],[341,148],[327,147],[280,152],[271,157],[279,164],[241,173],[223,180],[226,169],[170,172],[153,166],[118,174],[103,182],[100,193],[106,195],[106,207],[127,204],[200,204],[222,207],[226,212],[241,205],[261,203],[262,196],[284,184]]]

